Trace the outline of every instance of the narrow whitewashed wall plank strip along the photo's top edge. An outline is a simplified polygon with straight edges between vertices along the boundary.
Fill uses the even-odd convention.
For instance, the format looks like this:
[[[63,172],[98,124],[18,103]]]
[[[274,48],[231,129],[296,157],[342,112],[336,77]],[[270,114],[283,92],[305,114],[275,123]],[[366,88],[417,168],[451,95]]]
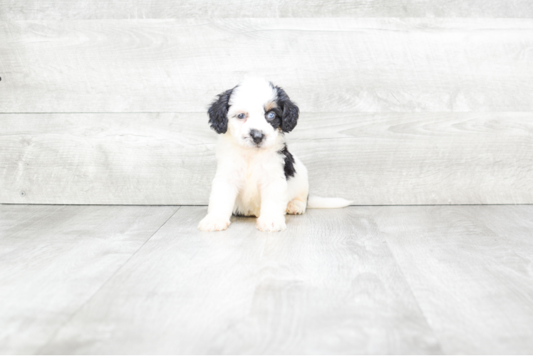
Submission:
[[[0,20],[197,17],[533,17],[527,0],[0,0]]]

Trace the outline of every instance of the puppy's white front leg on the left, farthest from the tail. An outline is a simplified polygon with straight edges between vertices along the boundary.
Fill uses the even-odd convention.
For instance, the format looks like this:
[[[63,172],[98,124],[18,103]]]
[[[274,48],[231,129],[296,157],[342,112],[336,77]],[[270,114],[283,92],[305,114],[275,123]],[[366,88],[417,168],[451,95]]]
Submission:
[[[237,187],[227,179],[215,177],[209,196],[209,207],[198,229],[202,231],[222,231],[227,229],[231,222],[233,206],[237,198]]]

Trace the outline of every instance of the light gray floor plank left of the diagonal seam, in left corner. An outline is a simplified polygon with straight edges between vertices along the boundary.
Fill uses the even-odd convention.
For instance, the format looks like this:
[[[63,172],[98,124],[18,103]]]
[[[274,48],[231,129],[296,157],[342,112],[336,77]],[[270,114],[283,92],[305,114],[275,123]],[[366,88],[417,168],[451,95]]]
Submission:
[[[0,353],[37,352],[177,209],[1,205]]]

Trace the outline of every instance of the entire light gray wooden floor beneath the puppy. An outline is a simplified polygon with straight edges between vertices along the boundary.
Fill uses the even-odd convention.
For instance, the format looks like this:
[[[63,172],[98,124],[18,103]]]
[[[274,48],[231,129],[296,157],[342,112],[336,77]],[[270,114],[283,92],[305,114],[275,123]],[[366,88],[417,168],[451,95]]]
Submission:
[[[0,205],[0,354],[532,354],[533,206]]]

